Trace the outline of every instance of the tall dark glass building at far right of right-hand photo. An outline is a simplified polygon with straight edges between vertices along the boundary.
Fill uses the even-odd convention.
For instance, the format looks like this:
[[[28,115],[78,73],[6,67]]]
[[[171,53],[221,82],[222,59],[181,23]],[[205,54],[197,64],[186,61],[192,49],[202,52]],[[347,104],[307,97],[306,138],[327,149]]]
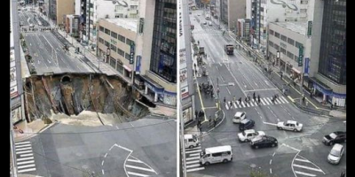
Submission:
[[[329,103],[346,104],[346,0],[325,0],[316,94]]]

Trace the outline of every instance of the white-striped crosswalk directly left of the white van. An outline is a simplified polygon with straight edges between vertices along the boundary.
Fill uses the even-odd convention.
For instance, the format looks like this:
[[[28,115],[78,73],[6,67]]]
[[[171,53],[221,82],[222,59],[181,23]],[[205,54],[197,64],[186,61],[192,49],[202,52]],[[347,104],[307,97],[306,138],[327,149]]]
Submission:
[[[185,149],[186,173],[204,170],[205,167],[200,164],[201,146],[192,149]]]

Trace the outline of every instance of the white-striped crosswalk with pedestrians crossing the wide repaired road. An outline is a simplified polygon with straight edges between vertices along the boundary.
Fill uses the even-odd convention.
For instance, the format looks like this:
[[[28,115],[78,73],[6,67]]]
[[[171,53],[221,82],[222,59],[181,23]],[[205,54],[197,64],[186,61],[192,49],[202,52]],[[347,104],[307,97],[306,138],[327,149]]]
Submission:
[[[255,100],[251,100],[249,103],[246,103],[245,101],[241,101],[241,104],[236,101],[232,103],[231,102],[226,102],[225,103],[225,109],[230,110],[230,109],[238,109],[238,108],[247,108],[247,107],[254,107],[258,105],[271,105],[271,104],[288,104],[288,99],[286,99],[284,96],[278,97],[274,103],[272,103],[272,97],[263,97],[260,98],[260,104],[257,104]]]

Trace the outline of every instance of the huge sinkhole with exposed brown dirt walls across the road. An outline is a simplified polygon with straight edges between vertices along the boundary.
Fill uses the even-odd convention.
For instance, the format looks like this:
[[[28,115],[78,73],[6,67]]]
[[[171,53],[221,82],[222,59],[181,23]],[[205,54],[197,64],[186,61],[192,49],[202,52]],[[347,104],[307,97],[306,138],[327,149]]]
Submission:
[[[124,81],[106,75],[32,76],[24,86],[29,119],[59,119],[62,123],[99,126],[139,119],[149,110]]]

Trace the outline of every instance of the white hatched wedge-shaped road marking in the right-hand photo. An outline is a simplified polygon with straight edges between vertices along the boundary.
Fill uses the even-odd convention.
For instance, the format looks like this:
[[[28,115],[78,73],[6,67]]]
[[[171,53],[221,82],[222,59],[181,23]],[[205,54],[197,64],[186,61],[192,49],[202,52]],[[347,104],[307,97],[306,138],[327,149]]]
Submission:
[[[319,166],[300,155],[297,155],[293,161],[292,169],[296,174],[296,177],[317,176],[317,174],[321,173],[326,174],[319,168]]]

